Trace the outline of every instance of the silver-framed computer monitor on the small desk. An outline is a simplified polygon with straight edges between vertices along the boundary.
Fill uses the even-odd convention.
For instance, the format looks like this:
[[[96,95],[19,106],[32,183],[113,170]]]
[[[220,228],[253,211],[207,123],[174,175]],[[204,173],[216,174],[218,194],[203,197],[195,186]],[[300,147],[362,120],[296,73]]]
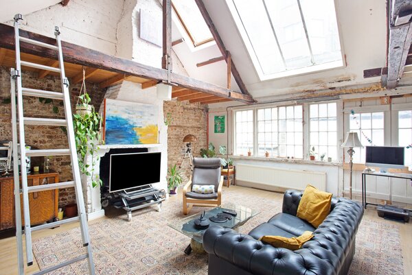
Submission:
[[[404,147],[366,146],[366,166],[388,168],[404,167]]]

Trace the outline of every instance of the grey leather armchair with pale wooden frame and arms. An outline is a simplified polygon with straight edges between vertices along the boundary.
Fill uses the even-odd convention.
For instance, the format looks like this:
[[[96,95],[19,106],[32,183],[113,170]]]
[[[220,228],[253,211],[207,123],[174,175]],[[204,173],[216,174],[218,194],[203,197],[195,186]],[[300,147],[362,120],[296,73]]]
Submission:
[[[183,214],[192,206],[220,206],[222,204],[223,176],[220,173],[219,158],[194,158],[193,174],[183,188]],[[192,184],[214,185],[215,192],[202,194],[192,192]]]

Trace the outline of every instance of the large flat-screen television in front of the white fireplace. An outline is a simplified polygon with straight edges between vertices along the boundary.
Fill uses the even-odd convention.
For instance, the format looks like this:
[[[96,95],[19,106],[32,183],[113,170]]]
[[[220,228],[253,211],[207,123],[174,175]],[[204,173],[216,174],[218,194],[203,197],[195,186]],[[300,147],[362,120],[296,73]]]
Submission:
[[[160,182],[160,161],[160,152],[111,154],[108,191],[126,191]]]

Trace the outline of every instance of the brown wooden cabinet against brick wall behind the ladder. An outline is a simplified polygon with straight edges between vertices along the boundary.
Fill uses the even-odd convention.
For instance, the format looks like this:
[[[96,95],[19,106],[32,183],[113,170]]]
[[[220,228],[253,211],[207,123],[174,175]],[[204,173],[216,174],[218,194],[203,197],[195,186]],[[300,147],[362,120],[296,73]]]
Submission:
[[[41,185],[58,182],[58,173],[27,174],[27,185]],[[0,230],[14,227],[14,180],[12,176],[0,177]],[[20,196],[21,198],[21,196]],[[43,224],[57,217],[58,190],[29,193],[30,224]],[[23,199],[21,198],[21,218],[23,217]]]

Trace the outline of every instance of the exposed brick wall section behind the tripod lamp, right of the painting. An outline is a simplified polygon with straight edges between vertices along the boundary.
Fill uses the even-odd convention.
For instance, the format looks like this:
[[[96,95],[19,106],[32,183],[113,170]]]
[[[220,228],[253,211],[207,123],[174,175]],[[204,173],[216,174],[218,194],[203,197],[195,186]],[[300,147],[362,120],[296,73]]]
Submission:
[[[168,127],[168,167],[180,165],[186,150],[183,138],[187,134],[194,134],[197,141],[192,143],[193,156],[200,156],[201,148],[207,146],[207,106],[189,104],[188,101],[165,101],[163,112],[172,115],[172,122]],[[190,177],[190,162],[185,160],[182,167],[184,182]]]

